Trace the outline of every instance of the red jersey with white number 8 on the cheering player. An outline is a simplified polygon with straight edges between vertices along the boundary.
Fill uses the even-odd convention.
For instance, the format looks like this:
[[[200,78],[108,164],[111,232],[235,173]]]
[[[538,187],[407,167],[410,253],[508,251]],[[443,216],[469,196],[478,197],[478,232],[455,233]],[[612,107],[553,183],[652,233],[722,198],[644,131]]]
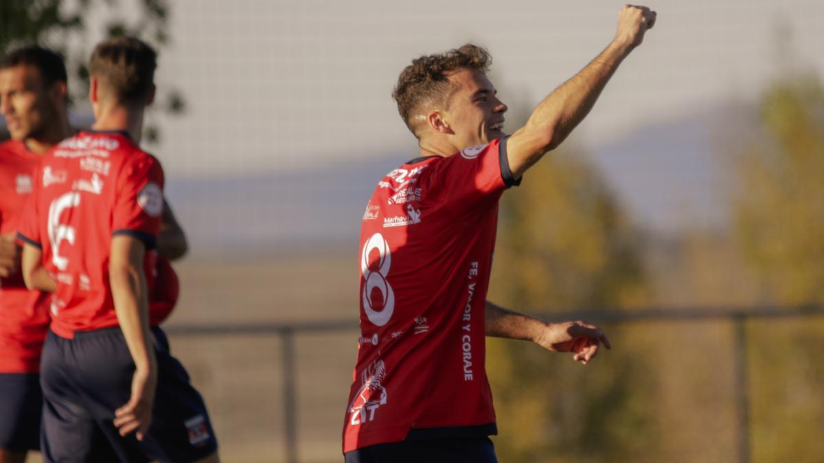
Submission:
[[[516,183],[505,139],[410,161],[378,183],[361,226],[344,452],[412,428],[494,423],[486,292],[499,199]]]

